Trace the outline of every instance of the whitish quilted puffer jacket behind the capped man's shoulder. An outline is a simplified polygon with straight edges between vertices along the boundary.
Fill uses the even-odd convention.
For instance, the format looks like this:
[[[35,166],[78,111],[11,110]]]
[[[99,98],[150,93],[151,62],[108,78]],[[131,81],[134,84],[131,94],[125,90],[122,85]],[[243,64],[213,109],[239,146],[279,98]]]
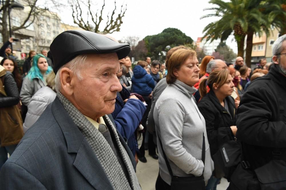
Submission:
[[[53,102],[56,97],[56,93],[50,87],[40,88],[31,98],[28,105],[28,112],[23,123],[24,133],[39,119],[42,113],[45,111],[47,105]]]

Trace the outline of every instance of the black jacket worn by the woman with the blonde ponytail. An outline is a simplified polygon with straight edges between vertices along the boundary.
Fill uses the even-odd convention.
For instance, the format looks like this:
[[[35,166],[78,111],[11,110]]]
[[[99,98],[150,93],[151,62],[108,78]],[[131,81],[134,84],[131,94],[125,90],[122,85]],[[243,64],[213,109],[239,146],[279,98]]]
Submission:
[[[225,98],[228,103],[229,113],[210,90],[198,103],[198,109],[206,121],[206,132],[210,144],[210,153],[213,156],[219,146],[229,140],[234,140],[230,126],[235,125],[235,102],[233,97]]]

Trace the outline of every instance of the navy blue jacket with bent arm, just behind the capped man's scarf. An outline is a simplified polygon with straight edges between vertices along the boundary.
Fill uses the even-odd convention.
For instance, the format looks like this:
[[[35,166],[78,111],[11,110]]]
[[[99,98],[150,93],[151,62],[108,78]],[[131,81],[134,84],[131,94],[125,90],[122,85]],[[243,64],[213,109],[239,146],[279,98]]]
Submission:
[[[130,92],[122,86],[122,91],[117,92],[115,109],[111,114],[118,132],[127,139],[128,147],[135,156],[135,149],[138,148],[134,132],[138,127],[146,110],[144,104],[138,99],[128,99]],[[124,104],[124,100],[128,101]]]

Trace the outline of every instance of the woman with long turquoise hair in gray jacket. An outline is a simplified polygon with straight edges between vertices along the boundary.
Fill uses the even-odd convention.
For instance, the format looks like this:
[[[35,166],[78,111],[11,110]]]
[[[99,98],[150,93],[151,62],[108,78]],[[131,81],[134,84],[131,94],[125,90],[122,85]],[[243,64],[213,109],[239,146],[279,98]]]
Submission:
[[[52,71],[48,66],[47,59],[42,54],[33,57],[32,67],[23,80],[20,97],[22,103],[29,105],[32,96],[41,88],[47,85],[46,77]]]

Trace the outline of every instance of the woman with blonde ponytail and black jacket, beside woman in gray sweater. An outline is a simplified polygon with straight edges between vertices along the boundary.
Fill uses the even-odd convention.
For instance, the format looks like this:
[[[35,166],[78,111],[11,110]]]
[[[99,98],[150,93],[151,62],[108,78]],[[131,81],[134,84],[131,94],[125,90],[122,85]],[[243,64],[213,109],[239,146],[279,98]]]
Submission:
[[[229,140],[235,140],[237,127],[235,124],[235,101],[231,94],[234,84],[228,69],[212,71],[208,78],[200,82],[201,101],[198,109],[206,121],[206,132],[213,158],[219,147]],[[210,88],[207,93],[206,85]],[[230,179],[232,173],[225,176]],[[206,190],[216,189],[220,178],[214,175],[209,179]]]

